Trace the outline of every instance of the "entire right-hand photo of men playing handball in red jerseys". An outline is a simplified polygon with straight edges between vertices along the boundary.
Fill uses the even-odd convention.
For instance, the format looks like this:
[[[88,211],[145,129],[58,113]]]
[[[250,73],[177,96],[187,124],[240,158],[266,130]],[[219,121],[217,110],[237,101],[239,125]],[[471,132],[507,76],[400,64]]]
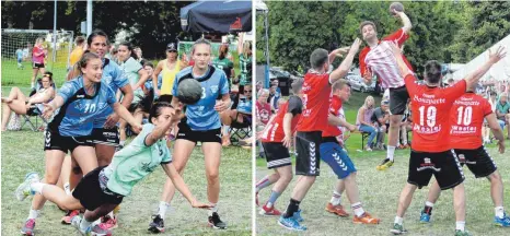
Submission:
[[[257,235],[508,234],[510,2],[254,7]]]

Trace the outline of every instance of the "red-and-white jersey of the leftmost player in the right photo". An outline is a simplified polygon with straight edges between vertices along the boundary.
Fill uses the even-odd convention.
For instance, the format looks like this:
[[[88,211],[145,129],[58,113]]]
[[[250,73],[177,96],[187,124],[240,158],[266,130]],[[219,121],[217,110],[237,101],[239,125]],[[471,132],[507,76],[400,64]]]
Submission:
[[[295,99],[295,101],[291,101]],[[290,109],[289,109],[289,104]],[[283,105],[280,106],[278,109],[278,114],[269,120],[269,122],[266,125],[266,128],[263,131],[262,134],[262,141],[263,142],[282,142],[285,138],[285,132],[283,132],[283,117],[286,114],[291,113],[293,115],[291,125],[290,125],[290,131],[291,133],[295,132],[295,127],[298,125],[298,121],[301,118],[301,111],[302,111],[302,104],[301,99],[299,97],[291,96],[288,102],[286,102]]]

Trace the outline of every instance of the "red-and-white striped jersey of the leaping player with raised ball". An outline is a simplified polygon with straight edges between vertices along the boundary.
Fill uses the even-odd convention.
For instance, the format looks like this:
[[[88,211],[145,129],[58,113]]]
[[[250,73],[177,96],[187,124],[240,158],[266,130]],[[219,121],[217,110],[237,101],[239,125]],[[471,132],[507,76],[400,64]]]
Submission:
[[[373,48],[369,46],[364,47],[359,54],[359,71],[361,76],[368,71],[372,71],[381,80],[381,85],[384,88],[404,86],[404,79],[401,75],[398,64],[387,42],[396,42],[398,47],[402,47],[407,38],[409,38],[409,35],[399,28],[380,40],[378,46]],[[407,67],[413,70],[407,58],[404,55],[402,58]]]

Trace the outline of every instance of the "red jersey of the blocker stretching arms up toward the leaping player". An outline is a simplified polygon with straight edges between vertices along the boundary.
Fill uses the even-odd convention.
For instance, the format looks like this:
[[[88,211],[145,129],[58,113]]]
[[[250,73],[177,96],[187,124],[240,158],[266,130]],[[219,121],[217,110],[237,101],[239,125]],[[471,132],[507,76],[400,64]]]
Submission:
[[[298,122],[298,131],[323,131],[327,127],[327,110],[332,97],[329,74],[311,71],[304,74],[303,114]]]

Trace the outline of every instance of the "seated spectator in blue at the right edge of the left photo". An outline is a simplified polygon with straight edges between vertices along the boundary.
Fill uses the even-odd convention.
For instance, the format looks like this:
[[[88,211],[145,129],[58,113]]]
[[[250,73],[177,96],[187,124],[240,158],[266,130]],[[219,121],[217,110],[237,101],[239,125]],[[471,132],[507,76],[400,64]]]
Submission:
[[[230,110],[224,111],[221,121],[223,122],[222,145],[230,145],[230,125],[251,123],[252,122],[252,85],[244,85],[244,94],[239,94],[237,99],[234,99]]]

